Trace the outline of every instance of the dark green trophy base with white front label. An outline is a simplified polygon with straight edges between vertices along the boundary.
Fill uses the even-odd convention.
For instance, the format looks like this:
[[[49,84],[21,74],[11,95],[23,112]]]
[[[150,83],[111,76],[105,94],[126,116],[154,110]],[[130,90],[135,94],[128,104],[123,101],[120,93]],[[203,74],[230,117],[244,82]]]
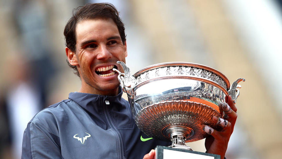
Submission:
[[[170,148],[157,146],[156,159],[188,158],[188,159],[220,159],[220,155],[184,150],[179,148]]]

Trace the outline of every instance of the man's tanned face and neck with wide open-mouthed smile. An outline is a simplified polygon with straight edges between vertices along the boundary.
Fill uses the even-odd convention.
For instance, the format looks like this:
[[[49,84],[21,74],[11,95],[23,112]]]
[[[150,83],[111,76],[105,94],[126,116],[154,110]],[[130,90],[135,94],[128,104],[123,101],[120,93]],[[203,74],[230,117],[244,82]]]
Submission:
[[[125,62],[126,43],[122,44],[117,25],[112,19],[90,19],[76,26],[78,72],[82,81],[80,91],[100,95],[116,95],[117,73],[122,72],[117,61]]]

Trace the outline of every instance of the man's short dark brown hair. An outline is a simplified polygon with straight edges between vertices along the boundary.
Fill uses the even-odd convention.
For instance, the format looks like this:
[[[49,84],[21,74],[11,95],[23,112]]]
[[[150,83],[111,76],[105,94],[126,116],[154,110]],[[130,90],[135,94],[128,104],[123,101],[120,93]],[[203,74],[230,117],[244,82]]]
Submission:
[[[117,25],[118,32],[120,33],[120,37],[122,43],[125,44],[125,27],[122,20],[119,17],[119,12],[110,3],[94,3],[94,4],[86,4],[85,6],[79,6],[76,9],[73,9],[73,16],[70,18],[68,23],[66,24],[64,35],[66,41],[66,47],[70,49],[70,51],[75,53],[75,44],[76,44],[76,24],[80,21],[87,19],[113,19],[115,24]],[[68,66],[75,70],[75,74],[79,76],[78,70],[76,66],[71,65],[67,60]]]

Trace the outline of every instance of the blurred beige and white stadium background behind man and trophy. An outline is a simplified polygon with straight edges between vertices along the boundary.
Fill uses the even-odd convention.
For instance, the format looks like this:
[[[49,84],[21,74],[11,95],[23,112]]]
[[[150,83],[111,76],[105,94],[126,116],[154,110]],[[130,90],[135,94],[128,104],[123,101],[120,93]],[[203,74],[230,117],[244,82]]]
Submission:
[[[79,90],[63,30],[73,8],[93,2],[120,11],[133,73],[179,61],[245,78],[226,158],[281,158],[281,0],[0,0],[0,158],[20,158],[28,121]],[[204,140],[188,145],[206,151]]]

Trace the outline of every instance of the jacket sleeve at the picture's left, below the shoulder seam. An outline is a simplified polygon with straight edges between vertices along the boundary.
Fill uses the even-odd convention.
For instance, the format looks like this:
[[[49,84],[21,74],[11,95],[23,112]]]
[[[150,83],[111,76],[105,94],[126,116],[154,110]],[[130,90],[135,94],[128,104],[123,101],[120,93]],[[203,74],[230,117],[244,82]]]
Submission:
[[[24,131],[21,158],[62,158],[59,137],[37,122],[28,123]]]

